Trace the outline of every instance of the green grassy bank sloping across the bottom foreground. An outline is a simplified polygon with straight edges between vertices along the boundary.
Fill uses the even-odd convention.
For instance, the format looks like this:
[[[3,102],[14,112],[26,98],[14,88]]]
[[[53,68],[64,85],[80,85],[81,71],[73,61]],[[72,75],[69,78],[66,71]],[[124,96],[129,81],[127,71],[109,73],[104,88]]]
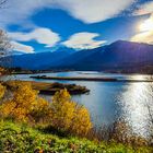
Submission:
[[[151,146],[132,148],[115,142],[60,138],[26,125],[0,121],[0,153],[152,153]]]

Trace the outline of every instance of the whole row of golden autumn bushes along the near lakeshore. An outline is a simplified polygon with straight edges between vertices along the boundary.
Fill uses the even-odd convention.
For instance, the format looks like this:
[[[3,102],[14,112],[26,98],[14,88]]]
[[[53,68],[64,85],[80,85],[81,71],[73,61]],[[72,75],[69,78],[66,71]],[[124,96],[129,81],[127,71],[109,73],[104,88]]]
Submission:
[[[54,134],[56,133],[57,136],[81,136],[90,140],[94,140],[95,142],[102,141],[104,138],[103,134],[107,132],[106,136],[108,137],[108,143],[113,142],[114,144],[114,142],[118,142],[118,144],[123,143],[126,145],[134,146],[146,145],[146,141],[144,139],[133,136],[129,137],[127,134],[127,129],[129,129],[129,127],[127,127],[125,122],[117,122],[117,125],[115,125],[115,127],[111,127],[113,129],[110,128],[110,130],[108,129],[105,131],[105,129],[103,129],[102,132],[94,132],[89,110],[84,106],[73,102],[67,90],[57,92],[52,96],[51,103],[39,97],[38,92],[33,90],[31,84],[28,83],[17,84],[17,87],[13,92],[13,95],[8,99],[2,98],[4,95],[7,95],[5,87],[0,84],[0,98],[2,99],[0,103],[0,119],[3,119],[4,122],[8,121],[5,119],[9,118],[11,119],[11,122],[13,120],[13,122],[15,121],[15,123],[26,122],[24,125],[34,126],[34,129],[38,129],[39,132],[43,131],[43,133],[45,134],[50,131]],[[4,129],[4,134],[5,132],[9,132],[9,130],[7,129],[5,131]],[[3,136],[1,136],[0,139],[0,149],[3,148],[2,145],[4,141],[2,138]],[[10,137],[9,134],[4,138],[7,148],[10,143],[10,140],[12,140],[13,145],[9,144],[9,148],[11,148],[11,150],[14,145],[15,149],[19,149],[17,145],[24,146],[24,142],[27,140],[26,139],[24,142],[22,142],[23,139],[21,139],[21,133],[19,133],[19,137],[15,140],[13,138],[14,136]],[[20,139],[21,142],[19,142]],[[39,141],[44,143],[42,137],[38,140],[38,143]],[[49,148],[48,140],[46,142],[46,146]],[[32,145],[31,140],[30,145]],[[116,148],[116,145],[114,146]],[[84,145],[84,149],[86,149],[86,145]]]

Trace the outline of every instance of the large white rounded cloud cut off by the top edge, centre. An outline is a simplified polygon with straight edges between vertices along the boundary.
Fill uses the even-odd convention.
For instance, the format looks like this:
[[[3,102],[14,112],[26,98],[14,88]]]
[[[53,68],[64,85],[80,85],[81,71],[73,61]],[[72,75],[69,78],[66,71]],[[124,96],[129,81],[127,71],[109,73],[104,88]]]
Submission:
[[[136,0],[57,0],[61,9],[85,23],[96,23],[118,15]]]

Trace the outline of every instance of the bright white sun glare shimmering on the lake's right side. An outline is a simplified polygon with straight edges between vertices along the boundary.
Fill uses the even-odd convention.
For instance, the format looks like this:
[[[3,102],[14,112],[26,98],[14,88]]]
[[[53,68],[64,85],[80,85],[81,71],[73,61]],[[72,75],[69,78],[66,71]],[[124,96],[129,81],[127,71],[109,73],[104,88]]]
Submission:
[[[149,136],[149,109],[152,107],[152,97],[150,93],[150,83],[130,83],[127,91],[118,97],[118,104],[121,106],[121,116],[129,122],[134,133]],[[153,93],[152,93],[153,94]]]

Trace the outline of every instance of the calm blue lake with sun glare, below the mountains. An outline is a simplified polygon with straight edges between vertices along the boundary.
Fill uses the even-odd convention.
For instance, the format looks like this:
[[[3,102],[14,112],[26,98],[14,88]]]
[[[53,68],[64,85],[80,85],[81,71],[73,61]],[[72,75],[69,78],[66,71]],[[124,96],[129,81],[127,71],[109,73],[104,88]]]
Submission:
[[[17,74],[9,79],[40,82],[55,82],[51,80],[31,79],[37,74]],[[40,73],[43,75],[43,73]],[[148,80],[151,75],[142,74],[113,74],[103,72],[56,72],[44,73],[47,76],[87,76],[87,78],[116,78]],[[7,78],[5,78],[7,79]],[[91,90],[90,94],[74,95],[72,98],[84,105],[91,113],[94,125],[111,125],[117,118],[123,118],[133,132],[148,137],[150,133],[150,119],[148,105],[153,114],[153,91],[149,82],[97,82],[97,81],[56,81],[61,83],[75,83]],[[152,93],[152,95],[151,95]],[[45,96],[50,101],[50,96]]]

